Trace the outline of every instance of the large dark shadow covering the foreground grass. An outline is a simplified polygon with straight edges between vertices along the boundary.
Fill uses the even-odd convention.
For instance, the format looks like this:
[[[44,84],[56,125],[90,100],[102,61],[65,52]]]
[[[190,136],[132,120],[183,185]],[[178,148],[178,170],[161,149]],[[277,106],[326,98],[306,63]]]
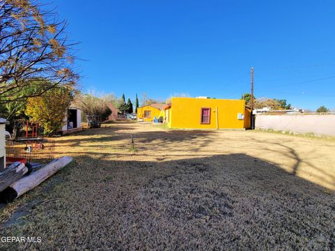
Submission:
[[[51,202],[31,209],[23,225],[1,229],[3,236],[18,228],[43,236],[40,249],[334,248],[334,195],[259,158],[75,161],[43,195]]]

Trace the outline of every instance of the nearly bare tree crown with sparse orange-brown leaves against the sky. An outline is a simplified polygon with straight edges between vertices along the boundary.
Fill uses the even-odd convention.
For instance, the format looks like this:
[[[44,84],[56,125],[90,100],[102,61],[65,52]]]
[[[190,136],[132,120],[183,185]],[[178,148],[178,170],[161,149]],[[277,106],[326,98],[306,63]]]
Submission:
[[[67,23],[43,8],[35,0],[0,1],[0,104],[77,82]]]

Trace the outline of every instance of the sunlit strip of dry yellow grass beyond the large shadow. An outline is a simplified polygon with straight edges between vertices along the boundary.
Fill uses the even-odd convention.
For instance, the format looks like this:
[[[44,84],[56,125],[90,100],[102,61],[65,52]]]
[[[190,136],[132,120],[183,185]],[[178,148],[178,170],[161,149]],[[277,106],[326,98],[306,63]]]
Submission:
[[[135,152],[129,151],[131,135]],[[69,153],[137,161],[241,153],[274,163],[307,181],[335,190],[335,141],[322,139],[251,130],[166,130],[151,123],[117,123],[57,140],[57,154]]]

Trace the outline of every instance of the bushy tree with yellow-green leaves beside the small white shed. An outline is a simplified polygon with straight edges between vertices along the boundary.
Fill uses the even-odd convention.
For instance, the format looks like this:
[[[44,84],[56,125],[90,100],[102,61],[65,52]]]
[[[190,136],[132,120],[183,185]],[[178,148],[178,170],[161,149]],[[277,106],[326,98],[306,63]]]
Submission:
[[[61,130],[72,100],[73,95],[66,88],[50,89],[43,96],[28,98],[26,114],[31,121],[43,126],[45,135],[52,135]]]

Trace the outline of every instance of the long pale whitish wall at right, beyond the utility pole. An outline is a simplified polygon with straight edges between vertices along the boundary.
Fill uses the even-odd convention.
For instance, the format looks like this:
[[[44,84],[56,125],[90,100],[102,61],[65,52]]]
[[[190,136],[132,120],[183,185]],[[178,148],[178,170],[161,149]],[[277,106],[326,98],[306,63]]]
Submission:
[[[335,136],[335,114],[258,114],[255,128]]]

